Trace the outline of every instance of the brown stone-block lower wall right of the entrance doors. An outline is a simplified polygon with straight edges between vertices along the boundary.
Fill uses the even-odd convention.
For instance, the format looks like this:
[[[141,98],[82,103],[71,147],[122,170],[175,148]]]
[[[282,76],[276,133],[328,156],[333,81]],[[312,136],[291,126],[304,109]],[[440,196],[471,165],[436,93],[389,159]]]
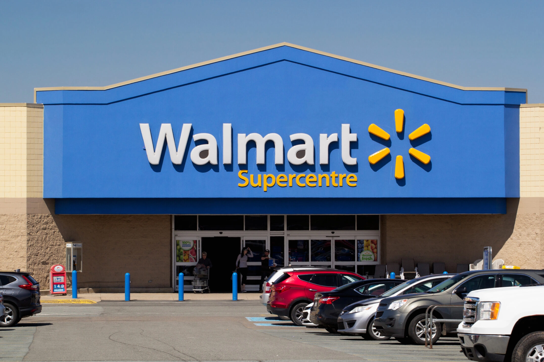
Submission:
[[[511,198],[505,215],[384,215],[382,263],[446,263],[449,272],[457,264],[481,259],[483,248],[493,248],[493,259],[524,269],[544,268],[544,220],[534,211],[534,199]],[[382,249],[382,255],[384,255]]]

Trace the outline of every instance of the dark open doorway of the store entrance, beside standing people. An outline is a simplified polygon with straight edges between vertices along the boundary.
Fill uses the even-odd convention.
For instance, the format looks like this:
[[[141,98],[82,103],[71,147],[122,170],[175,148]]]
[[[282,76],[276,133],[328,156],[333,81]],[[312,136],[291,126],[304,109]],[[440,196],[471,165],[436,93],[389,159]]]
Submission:
[[[236,258],[240,254],[240,238],[215,236],[201,239],[201,251],[208,253],[212,261],[209,287],[212,293],[232,292],[232,271],[236,269]]]

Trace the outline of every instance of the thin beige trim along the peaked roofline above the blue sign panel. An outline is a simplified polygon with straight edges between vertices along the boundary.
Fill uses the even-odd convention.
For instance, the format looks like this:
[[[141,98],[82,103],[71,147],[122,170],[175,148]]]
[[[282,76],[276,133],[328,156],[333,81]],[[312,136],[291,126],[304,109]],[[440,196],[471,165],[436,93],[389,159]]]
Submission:
[[[397,71],[397,70],[394,70],[394,69],[391,69],[391,68],[386,68],[386,67],[382,67],[382,66],[379,66],[379,65],[365,63],[364,61],[355,60],[355,59],[351,59],[351,58],[347,58],[347,57],[341,57],[340,55],[326,53],[326,52],[318,51],[316,49],[302,47],[300,45],[295,45],[295,44],[291,44],[291,43],[287,43],[287,42],[281,42],[281,43],[277,43],[277,44],[274,44],[274,45],[269,45],[269,46],[266,46],[266,47],[257,48],[257,49],[253,49],[253,50],[242,52],[242,53],[227,55],[226,57],[221,57],[221,58],[216,58],[216,59],[212,59],[212,60],[202,61],[201,63],[187,65],[187,66],[184,66],[184,67],[181,67],[181,68],[175,68],[175,69],[172,69],[172,70],[169,70],[169,71],[164,71],[164,72],[160,72],[160,73],[151,74],[150,76],[145,76],[145,77],[135,78],[135,79],[131,79],[131,80],[126,80],[125,82],[115,83],[115,84],[112,84],[112,85],[106,85],[106,86],[102,86],[102,87],[81,87],[81,86],[78,87],[78,86],[73,86],[73,87],[34,88],[34,103],[36,103],[36,92],[38,92],[38,91],[108,90],[108,89],[120,87],[120,86],[123,86],[123,85],[131,84],[131,83],[141,82],[142,80],[156,78],[156,77],[162,77],[162,76],[165,76],[167,74],[181,72],[181,71],[184,71],[184,70],[188,70],[190,68],[196,68],[196,67],[200,67],[200,66],[207,65],[207,64],[217,63],[217,62],[223,61],[223,60],[238,58],[238,57],[242,57],[243,55],[258,53],[258,52],[262,52],[262,51],[267,51],[269,49],[279,48],[279,47],[282,47],[282,46],[288,46],[288,47],[291,47],[291,48],[296,48],[296,49],[300,49],[300,50],[307,51],[307,52],[321,54],[321,55],[325,55],[326,57],[331,57],[331,58],[336,58],[336,59],[339,59],[339,60],[349,61],[350,63],[360,64],[360,65],[364,65],[364,66],[367,66],[367,67],[379,69],[379,70],[382,70],[382,71],[399,74],[401,76],[420,79],[420,80],[424,80],[425,82],[436,83],[436,84],[440,84],[440,85],[444,85],[444,86],[448,86],[448,87],[456,88],[456,89],[460,89],[460,90],[467,90],[467,91],[513,91],[513,92],[525,92],[525,93],[527,93],[527,89],[522,89],[522,88],[463,87],[461,85],[456,85],[456,84],[452,84],[452,83],[441,82],[440,80],[436,80],[436,79],[416,76],[416,74],[401,72],[401,71]],[[526,96],[526,99],[527,99],[527,96]],[[527,102],[527,100],[526,100],[526,102]]]

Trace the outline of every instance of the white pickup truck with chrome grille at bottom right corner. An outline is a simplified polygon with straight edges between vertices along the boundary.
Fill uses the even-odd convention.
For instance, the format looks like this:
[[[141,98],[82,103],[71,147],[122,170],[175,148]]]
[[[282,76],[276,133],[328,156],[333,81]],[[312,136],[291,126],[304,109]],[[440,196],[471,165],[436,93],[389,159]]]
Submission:
[[[473,361],[544,362],[544,285],[470,292],[457,332]]]

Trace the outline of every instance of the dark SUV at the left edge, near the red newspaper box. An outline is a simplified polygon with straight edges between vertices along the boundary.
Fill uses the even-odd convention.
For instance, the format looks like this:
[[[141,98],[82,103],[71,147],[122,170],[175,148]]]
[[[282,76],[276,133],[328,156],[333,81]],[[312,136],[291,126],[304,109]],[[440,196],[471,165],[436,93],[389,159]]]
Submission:
[[[0,293],[5,306],[0,327],[14,326],[21,318],[41,312],[40,285],[30,273],[0,271]]]

